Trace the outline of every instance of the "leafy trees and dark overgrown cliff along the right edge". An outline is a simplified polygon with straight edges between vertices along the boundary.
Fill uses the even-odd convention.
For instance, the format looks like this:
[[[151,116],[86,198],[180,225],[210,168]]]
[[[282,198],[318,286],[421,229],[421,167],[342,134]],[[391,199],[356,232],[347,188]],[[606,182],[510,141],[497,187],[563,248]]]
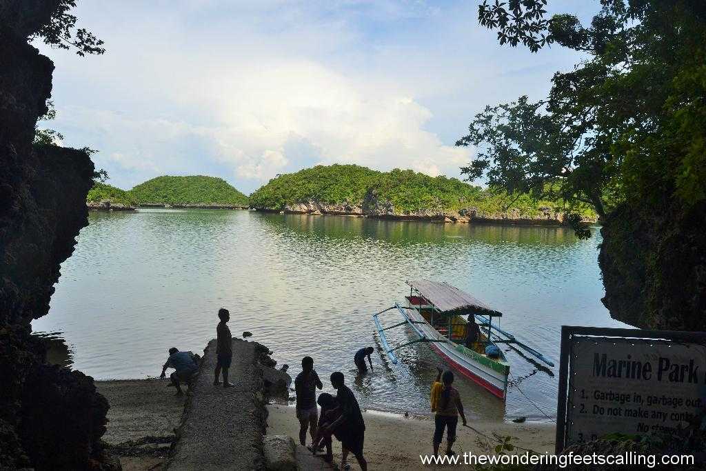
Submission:
[[[546,100],[486,107],[459,145],[465,171],[508,191],[590,203],[604,220],[611,316],[642,328],[706,328],[706,3],[596,1],[590,25],[546,18],[546,0],[484,2],[501,44],[556,42],[585,59]]]

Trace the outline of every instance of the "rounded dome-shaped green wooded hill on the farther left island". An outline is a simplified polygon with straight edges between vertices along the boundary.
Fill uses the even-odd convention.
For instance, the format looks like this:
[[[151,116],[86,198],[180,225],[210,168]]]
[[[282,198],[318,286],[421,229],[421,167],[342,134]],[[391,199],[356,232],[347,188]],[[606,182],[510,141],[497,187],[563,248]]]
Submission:
[[[204,177],[157,177],[128,193],[138,204],[232,206],[246,208],[248,197],[224,179]]]

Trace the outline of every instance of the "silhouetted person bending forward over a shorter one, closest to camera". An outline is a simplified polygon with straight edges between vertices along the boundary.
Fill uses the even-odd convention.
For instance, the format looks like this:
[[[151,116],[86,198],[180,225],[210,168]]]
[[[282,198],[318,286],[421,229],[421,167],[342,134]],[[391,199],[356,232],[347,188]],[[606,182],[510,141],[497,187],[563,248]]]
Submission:
[[[348,453],[353,453],[361,470],[368,469],[368,462],[363,456],[363,443],[365,440],[365,422],[360,412],[358,400],[353,391],[344,383],[344,376],[340,371],[331,374],[331,386],[337,391],[337,409],[334,413],[340,415],[324,429],[326,435],[335,434],[341,441],[342,455],[341,468],[347,469]]]

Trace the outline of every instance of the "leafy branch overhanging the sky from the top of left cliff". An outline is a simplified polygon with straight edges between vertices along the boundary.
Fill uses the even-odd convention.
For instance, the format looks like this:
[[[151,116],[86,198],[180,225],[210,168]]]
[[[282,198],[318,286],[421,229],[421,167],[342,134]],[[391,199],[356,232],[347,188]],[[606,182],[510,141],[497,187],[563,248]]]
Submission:
[[[42,25],[30,41],[40,38],[44,44],[59,49],[76,49],[76,54],[103,54],[104,42],[85,28],[76,28],[78,18],[71,14],[76,0],[59,0],[49,22]]]

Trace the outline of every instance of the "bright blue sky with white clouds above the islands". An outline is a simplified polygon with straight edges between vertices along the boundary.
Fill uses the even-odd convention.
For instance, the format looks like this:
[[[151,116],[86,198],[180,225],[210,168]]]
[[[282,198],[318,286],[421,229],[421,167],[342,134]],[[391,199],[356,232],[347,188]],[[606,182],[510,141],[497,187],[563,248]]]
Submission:
[[[212,175],[251,193],[276,174],[354,163],[460,177],[474,114],[546,97],[580,57],[500,46],[479,0],[79,1],[105,41],[56,66],[46,126],[88,146],[109,184]],[[597,2],[549,0],[590,18]],[[43,126],[43,124],[40,124]]]

